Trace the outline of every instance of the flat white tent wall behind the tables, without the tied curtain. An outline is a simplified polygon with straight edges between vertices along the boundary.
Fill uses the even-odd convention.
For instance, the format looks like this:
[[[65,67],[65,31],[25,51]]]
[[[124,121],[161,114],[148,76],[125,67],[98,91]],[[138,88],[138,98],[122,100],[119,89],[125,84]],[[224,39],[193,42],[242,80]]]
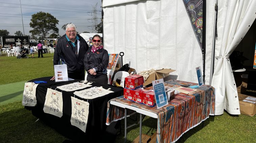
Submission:
[[[195,68],[202,68],[202,53],[183,0],[108,2],[103,1],[103,30],[104,48],[109,53],[123,51],[124,63],[130,62],[137,72],[171,68],[176,70],[172,74],[178,75],[178,80],[197,82]],[[209,3],[209,11],[213,12],[207,15],[213,15],[215,3]],[[211,16],[211,32],[207,32],[210,52],[212,22]],[[211,54],[206,56],[206,83],[209,83]]]

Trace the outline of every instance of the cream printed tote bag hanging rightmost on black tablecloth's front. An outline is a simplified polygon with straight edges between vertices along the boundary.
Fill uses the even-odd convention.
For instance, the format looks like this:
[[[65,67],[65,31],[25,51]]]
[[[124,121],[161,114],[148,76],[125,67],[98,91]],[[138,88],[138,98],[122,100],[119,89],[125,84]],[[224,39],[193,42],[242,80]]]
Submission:
[[[71,97],[71,125],[76,126],[83,132],[86,131],[88,114],[89,114],[89,103],[77,98]]]

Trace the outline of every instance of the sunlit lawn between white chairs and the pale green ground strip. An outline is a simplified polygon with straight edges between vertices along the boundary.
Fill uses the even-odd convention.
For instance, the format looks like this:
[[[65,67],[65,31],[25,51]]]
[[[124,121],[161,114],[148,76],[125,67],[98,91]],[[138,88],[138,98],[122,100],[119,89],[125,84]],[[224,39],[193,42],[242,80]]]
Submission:
[[[28,81],[38,77],[54,76],[53,53],[43,54],[44,58],[37,58],[38,54],[29,58],[17,59],[0,56],[0,85],[19,81]]]

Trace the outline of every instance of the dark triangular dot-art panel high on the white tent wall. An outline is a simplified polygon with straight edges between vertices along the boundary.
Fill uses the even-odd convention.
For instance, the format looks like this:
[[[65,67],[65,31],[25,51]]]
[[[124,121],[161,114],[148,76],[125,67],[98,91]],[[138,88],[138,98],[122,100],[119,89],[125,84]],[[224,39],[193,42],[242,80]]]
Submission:
[[[183,0],[187,9],[189,19],[196,34],[196,38],[202,50],[202,13],[203,0]]]

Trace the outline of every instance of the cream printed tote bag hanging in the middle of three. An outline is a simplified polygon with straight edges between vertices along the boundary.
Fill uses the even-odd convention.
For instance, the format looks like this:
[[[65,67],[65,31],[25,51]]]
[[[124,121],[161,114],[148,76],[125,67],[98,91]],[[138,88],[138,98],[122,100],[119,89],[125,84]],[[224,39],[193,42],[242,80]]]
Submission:
[[[55,115],[57,117],[62,117],[63,112],[63,99],[62,92],[52,90],[47,88],[47,93],[44,102],[44,112]]]

